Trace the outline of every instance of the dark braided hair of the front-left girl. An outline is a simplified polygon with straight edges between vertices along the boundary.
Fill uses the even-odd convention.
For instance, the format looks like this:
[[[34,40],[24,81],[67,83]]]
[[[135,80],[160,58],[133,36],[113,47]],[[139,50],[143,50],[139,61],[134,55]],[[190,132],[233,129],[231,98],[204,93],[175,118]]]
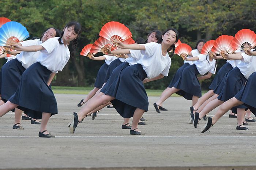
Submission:
[[[72,26],[74,26],[74,31],[75,31],[75,33],[78,35],[78,36],[77,36],[77,38],[78,38],[79,35],[80,35],[80,33],[82,32],[82,27],[81,27],[81,25],[80,25],[79,22],[70,21],[69,23],[67,23],[67,24],[65,25],[64,29],[65,29],[65,28],[72,27]],[[64,43],[61,42],[61,38],[63,37],[63,34],[64,34],[64,31],[62,31],[62,33],[60,34],[60,38],[58,39],[60,44],[64,44]],[[75,54],[75,52],[76,52],[76,47],[77,47],[77,43],[78,43],[77,38],[73,40],[73,46],[72,46],[72,47],[73,47],[73,51],[72,51],[72,53],[71,53],[71,57],[73,57],[74,54]]]

